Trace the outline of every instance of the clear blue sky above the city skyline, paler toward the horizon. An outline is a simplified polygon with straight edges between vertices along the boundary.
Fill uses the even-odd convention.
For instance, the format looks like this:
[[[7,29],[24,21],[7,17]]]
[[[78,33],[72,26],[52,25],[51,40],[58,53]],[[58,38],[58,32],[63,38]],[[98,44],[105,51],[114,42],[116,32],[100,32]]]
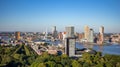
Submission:
[[[0,31],[64,31],[88,25],[98,32],[120,33],[120,0],[0,0]]]

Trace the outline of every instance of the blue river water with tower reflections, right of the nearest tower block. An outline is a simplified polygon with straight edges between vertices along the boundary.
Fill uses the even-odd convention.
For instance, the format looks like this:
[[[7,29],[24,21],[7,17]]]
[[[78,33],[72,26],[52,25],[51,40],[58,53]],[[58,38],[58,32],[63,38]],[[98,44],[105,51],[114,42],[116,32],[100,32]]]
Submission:
[[[103,54],[114,54],[120,55],[120,44],[111,44],[111,45],[83,45],[80,43],[76,43],[76,48],[92,48],[93,50],[100,51]]]

